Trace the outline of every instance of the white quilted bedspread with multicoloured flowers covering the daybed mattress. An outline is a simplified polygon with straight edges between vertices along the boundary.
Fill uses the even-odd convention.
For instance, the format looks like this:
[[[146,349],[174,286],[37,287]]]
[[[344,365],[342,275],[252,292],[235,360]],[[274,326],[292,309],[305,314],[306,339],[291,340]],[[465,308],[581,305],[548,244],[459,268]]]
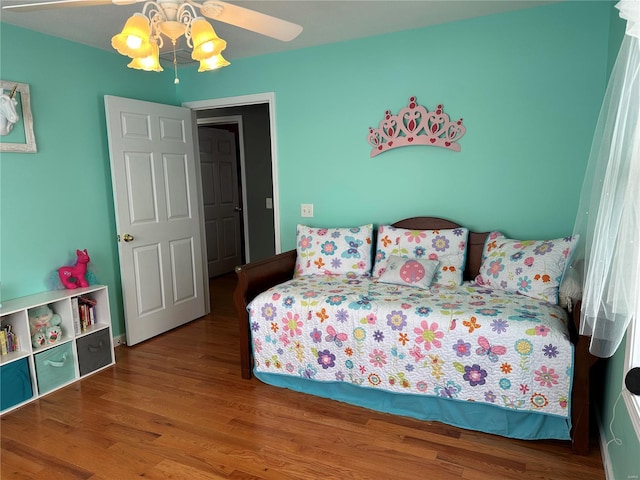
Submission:
[[[474,283],[306,276],[248,310],[260,372],[569,414],[573,346],[556,305]]]

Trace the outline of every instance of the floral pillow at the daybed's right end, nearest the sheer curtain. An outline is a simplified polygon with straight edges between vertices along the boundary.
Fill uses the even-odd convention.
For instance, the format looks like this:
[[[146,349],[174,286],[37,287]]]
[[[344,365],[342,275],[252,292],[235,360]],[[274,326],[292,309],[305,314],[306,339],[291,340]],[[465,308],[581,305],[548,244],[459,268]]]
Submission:
[[[514,240],[491,232],[484,244],[478,285],[558,303],[562,281],[579,235],[555,240]]]

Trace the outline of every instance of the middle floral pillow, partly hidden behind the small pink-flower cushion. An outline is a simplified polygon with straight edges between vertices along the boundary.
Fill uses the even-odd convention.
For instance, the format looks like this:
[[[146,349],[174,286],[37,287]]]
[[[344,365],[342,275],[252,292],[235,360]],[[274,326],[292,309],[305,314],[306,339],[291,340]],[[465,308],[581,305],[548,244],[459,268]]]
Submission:
[[[409,259],[438,260],[433,283],[457,286],[462,283],[466,261],[466,228],[448,230],[408,230],[391,225],[378,227],[376,258],[373,276],[380,277],[391,255]]]

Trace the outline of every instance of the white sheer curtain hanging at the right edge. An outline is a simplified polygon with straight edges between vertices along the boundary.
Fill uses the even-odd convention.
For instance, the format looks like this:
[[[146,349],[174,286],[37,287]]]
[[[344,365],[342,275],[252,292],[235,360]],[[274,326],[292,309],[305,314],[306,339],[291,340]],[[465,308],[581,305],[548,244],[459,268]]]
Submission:
[[[640,313],[640,1],[616,4],[626,35],[609,79],[574,233],[573,268],[584,272],[580,333],[610,357]]]

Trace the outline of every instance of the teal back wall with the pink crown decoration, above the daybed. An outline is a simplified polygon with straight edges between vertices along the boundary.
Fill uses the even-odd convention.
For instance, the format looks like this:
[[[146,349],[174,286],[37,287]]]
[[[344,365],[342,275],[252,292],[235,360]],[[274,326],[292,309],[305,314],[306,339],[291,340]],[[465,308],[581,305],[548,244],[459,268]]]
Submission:
[[[606,83],[609,5],[568,2],[185,71],[181,101],[275,92],[283,249],[315,225],[449,217],[512,236],[571,232]],[[369,157],[408,98],[464,118],[460,153]]]

